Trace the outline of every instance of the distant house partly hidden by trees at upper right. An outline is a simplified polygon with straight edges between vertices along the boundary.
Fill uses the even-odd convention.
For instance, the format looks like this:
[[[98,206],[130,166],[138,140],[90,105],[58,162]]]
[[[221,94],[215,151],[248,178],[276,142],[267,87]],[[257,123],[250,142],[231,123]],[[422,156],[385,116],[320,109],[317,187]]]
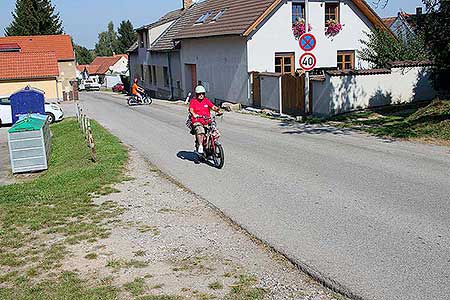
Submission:
[[[384,24],[405,42],[411,37],[416,37],[424,21],[425,15],[422,13],[422,7],[417,7],[415,14],[400,11],[396,17],[383,19]]]

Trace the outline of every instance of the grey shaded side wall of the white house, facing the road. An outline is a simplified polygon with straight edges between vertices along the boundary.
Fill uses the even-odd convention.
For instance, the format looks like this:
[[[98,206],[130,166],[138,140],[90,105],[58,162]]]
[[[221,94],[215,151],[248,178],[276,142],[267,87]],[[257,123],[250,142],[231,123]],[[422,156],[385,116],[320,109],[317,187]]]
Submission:
[[[216,37],[181,42],[183,89],[191,91],[186,64],[197,66],[197,80],[208,92],[208,98],[250,105],[247,43],[242,37]]]

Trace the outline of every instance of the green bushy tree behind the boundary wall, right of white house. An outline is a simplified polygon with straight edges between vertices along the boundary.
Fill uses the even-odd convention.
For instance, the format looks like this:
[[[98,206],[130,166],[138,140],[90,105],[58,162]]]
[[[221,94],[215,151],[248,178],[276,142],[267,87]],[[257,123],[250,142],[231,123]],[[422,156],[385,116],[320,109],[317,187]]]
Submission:
[[[362,60],[374,68],[388,67],[389,62],[397,60],[427,60],[429,53],[424,47],[422,33],[395,38],[390,32],[375,28],[366,32],[367,39],[361,40],[363,49],[358,51]]]

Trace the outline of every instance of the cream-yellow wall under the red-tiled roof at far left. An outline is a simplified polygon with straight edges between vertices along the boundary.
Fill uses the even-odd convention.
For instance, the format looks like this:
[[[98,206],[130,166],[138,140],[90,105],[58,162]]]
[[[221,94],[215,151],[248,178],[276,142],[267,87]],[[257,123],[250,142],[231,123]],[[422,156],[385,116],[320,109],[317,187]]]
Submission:
[[[43,91],[45,93],[45,100],[62,99],[62,86],[61,83],[56,81],[56,78],[0,81],[0,95],[14,94],[24,89],[27,85]]]

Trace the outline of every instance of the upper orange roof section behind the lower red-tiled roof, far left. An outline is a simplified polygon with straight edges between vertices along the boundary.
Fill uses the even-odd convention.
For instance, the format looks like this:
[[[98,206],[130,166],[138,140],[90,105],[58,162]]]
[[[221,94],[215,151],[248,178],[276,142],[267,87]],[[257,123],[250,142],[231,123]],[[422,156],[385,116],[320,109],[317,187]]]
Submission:
[[[75,53],[69,35],[34,35],[0,37],[0,44],[16,43],[22,52],[55,52],[56,58],[74,60]]]

